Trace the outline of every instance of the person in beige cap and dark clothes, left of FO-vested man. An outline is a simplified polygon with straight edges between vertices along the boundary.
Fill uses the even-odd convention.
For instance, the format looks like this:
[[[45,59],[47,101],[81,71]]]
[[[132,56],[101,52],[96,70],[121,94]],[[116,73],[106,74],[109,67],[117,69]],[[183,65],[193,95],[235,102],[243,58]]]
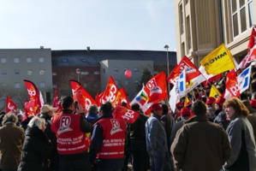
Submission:
[[[59,169],[59,155],[57,154],[57,138],[55,133],[51,131],[51,118],[55,115],[55,111],[57,108],[52,108],[49,104],[44,104],[40,109],[39,117],[45,119],[45,134],[47,137],[51,140],[51,143],[53,144],[53,150],[51,154],[49,155],[49,158],[46,158],[45,164],[48,163],[48,160],[50,164],[50,171],[57,171]]]

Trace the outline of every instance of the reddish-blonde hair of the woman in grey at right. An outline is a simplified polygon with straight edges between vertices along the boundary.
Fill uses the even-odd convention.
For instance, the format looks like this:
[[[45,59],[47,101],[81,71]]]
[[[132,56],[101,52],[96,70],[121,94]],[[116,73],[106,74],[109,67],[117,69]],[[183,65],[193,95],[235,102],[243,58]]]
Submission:
[[[231,97],[226,100],[223,103],[223,109],[226,109],[227,107],[233,107],[235,109],[235,117],[240,115],[247,117],[249,115],[249,110],[239,98]]]

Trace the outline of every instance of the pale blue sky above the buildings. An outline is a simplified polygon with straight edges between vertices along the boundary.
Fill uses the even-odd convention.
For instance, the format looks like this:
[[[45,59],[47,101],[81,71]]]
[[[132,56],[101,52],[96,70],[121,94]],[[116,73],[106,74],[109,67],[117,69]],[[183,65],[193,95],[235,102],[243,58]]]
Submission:
[[[0,49],[176,51],[172,0],[0,0]]]

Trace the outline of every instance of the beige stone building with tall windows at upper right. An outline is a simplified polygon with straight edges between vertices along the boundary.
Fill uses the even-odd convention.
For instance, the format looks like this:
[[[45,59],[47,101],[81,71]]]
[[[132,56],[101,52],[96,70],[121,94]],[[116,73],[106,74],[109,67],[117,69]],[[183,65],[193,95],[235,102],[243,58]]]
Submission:
[[[199,62],[223,43],[241,62],[256,24],[253,13],[253,0],[175,0],[177,62],[188,56],[199,67]]]

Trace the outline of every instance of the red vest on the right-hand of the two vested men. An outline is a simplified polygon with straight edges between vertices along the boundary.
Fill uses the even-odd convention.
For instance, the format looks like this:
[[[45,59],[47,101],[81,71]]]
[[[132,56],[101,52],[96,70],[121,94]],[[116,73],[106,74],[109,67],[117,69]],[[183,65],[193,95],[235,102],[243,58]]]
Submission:
[[[122,158],[124,156],[125,123],[113,118],[103,118],[97,123],[103,128],[104,137],[98,158]]]

